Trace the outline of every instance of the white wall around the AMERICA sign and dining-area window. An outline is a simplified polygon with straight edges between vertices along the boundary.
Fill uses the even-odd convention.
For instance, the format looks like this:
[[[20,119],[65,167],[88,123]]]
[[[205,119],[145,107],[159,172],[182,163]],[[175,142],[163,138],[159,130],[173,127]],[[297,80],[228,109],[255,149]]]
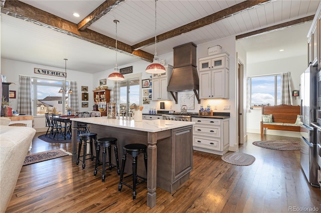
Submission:
[[[64,80],[64,78],[62,78],[62,77],[34,73],[34,68],[43,68],[43,69],[63,71],[63,72],[65,71],[65,69],[57,68],[57,67],[43,66],[43,65],[39,65],[39,64],[26,63],[26,62],[8,60],[8,59],[3,59],[3,58],[1,59],[1,74],[7,76],[8,82],[14,82],[14,84],[10,84],[9,89],[16,90],[17,97],[18,97],[18,88],[19,88],[19,85],[18,85],[19,74]],[[78,94],[81,94],[81,86],[82,85],[88,86],[89,99],[92,99],[92,98],[90,98],[90,95],[92,95],[92,93],[90,91],[93,90],[92,78],[93,78],[92,74],[90,74],[90,73],[79,72],[79,71],[67,69],[67,80],[73,80],[73,81],[77,82]],[[10,100],[11,100],[12,108],[14,110],[16,110],[17,106],[18,106],[18,98],[16,98],[16,99],[11,98]],[[82,108],[81,107],[81,95],[79,95],[78,102],[79,102],[79,110],[80,111],[88,111],[89,109],[92,110],[93,101],[89,101],[88,108]],[[34,116],[34,126],[33,127],[37,131],[43,131],[45,129],[44,126],[45,126],[45,116],[44,115]]]

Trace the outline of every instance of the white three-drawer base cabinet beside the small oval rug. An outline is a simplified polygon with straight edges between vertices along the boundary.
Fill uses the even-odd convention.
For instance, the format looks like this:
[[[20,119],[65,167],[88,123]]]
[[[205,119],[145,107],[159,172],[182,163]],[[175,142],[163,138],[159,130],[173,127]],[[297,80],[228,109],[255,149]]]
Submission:
[[[192,117],[193,148],[223,155],[229,149],[229,118]]]

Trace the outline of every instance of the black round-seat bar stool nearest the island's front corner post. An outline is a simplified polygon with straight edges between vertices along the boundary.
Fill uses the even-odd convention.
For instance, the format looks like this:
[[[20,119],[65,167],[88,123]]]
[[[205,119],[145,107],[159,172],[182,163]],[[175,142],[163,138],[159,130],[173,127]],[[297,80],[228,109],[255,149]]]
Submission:
[[[147,179],[144,177],[141,177],[137,175],[137,155],[140,153],[144,154],[144,161],[145,161],[145,168],[147,173],[147,146],[141,143],[131,143],[127,144],[123,147],[124,149],[124,155],[122,157],[122,164],[121,164],[121,171],[120,171],[120,181],[118,184],[118,191],[121,191],[122,184],[127,185],[128,187],[132,188],[132,199],[136,199],[136,185],[146,181]],[[124,169],[125,169],[125,163],[126,163],[126,157],[127,154],[130,154],[132,156],[132,174],[129,174],[127,176],[124,175]],[[132,186],[123,182],[123,179],[132,176]],[[142,179],[143,181],[137,182],[137,177]]]

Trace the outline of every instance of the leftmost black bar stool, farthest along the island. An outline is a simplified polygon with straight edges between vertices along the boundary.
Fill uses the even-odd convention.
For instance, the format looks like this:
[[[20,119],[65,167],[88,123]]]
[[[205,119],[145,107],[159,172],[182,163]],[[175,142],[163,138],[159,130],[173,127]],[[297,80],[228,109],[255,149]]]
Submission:
[[[86,150],[87,150],[87,141],[89,140],[89,145],[90,145],[90,153],[86,154]],[[82,161],[82,169],[85,169],[85,161],[86,159],[94,159],[94,155],[93,155],[93,149],[92,149],[92,140],[94,140],[95,142],[95,148],[97,146],[97,133],[93,133],[93,132],[89,132],[89,133],[82,133],[79,134],[79,146],[78,146],[78,157],[77,157],[77,165],[79,164],[79,161]],[[81,144],[82,141],[84,141],[84,147],[83,147],[83,155],[80,156],[80,152],[81,152]],[[87,155],[90,155],[90,158],[86,158]],[[80,157],[83,157],[83,159],[81,160]]]

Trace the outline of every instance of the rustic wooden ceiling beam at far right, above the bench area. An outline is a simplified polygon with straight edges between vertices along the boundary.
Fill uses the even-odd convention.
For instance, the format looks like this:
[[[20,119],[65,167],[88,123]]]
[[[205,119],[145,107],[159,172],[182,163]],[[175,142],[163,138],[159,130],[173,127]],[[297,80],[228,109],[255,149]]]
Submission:
[[[265,28],[262,28],[262,29],[254,30],[254,31],[251,31],[251,32],[247,32],[247,33],[244,33],[244,34],[236,35],[235,39],[238,40],[238,39],[241,39],[241,38],[244,38],[244,37],[250,37],[252,35],[259,35],[259,34],[264,33],[264,32],[273,31],[275,29],[279,29],[279,28],[283,28],[283,27],[287,27],[287,26],[291,26],[291,25],[295,25],[295,24],[299,24],[299,23],[304,23],[306,21],[313,20],[313,18],[314,18],[314,15],[306,16],[306,17],[303,17],[303,18],[298,18],[298,19],[291,20],[291,21],[288,21],[288,22],[284,22],[284,23],[273,25],[273,26],[265,27]]]

